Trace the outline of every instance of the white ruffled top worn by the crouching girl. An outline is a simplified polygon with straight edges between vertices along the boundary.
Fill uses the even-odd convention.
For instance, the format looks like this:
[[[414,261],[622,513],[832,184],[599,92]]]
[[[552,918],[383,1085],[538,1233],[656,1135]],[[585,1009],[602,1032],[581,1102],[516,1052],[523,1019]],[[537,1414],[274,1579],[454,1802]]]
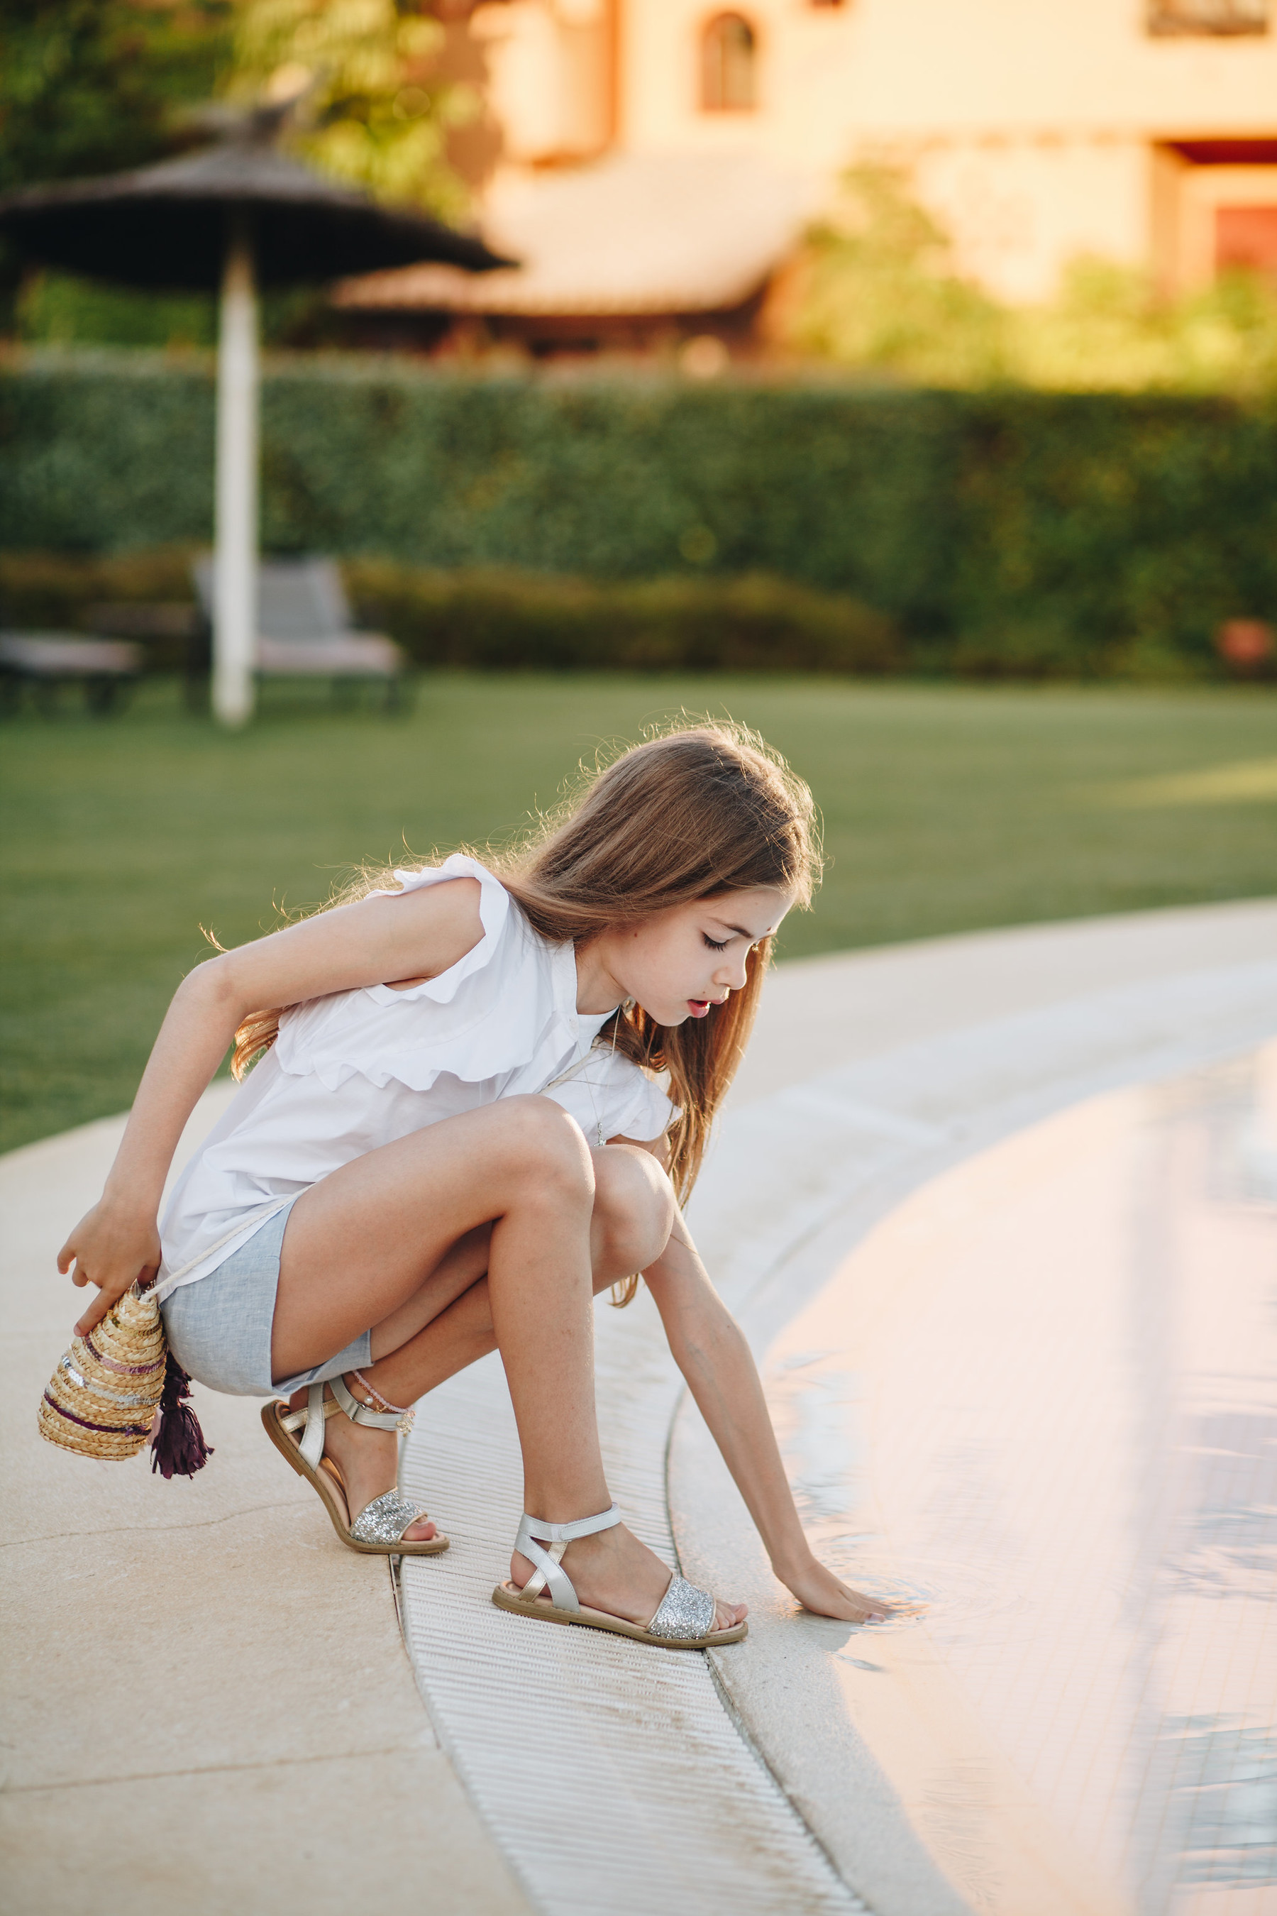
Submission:
[[[594,1144],[659,1138],[678,1115],[639,1065],[594,1050],[611,1014],[576,1010],[572,945],[540,937],[492,872],[458,853],[394,878],[402,891],[391,897],[477,878],[479,945],[408,991],[366,985],[281,1015],[172,1192],[161,1299],[207,1278],[329,1171],[442,1117],[544,1092]]]

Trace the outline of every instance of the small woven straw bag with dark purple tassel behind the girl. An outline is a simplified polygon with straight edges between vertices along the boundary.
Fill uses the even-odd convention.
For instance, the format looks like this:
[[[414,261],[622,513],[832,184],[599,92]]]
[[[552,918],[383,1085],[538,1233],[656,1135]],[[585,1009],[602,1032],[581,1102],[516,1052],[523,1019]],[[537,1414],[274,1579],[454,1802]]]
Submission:
[[[155,1291],[134,1284],[57,1360],[40,1399],[40,1435],[96,1458],[136,1456],[149,1437],[153,1471],[193,1477],[211,1450],[188,1403],[190,1381],[168,1351]]]

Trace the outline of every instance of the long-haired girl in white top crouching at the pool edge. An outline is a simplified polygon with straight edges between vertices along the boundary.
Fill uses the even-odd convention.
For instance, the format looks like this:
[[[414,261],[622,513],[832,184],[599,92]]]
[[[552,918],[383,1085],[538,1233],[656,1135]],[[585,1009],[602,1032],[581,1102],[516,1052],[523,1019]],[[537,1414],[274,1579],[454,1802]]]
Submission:
[[[592,1297],[628,1301],[641,1272],[775,1575],[819,1615],[886,1615],[808,1548],[758,1372],[678,1209],[816,872],[806,786],[749,734],[701,726],[626,751],[500,876],[461,855],[387,874],[201,964],[59,1253],[98,1286],[77,1330],[159,1272],[178,1362],[214,1391],[276,1393],[266,1433],[343,1542],[406,1556],[448,1539],[394,1489],[394,1429],[496,1347],[528,1514],[494,1602],[737,1642],[745,1606],[672,1577],[607,1493]],[[257,1063],[157,1232],[232,1040],[237,1077]]]

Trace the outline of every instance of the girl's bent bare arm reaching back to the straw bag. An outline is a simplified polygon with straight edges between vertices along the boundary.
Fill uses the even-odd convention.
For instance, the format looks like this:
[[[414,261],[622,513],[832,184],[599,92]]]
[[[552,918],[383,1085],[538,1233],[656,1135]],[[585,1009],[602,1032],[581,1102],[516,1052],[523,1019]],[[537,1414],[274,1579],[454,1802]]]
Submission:
[[[360,985],[417,983],[458,964],[482,937],[479,879],[362,899],[197,966],[178,985],[142,1073],[100,1203],[80,1219],[57,1268],[96,1284],[88,1332],[140,1276],[159,1268],[157,1213],[182,1129],[249,1012]]]

